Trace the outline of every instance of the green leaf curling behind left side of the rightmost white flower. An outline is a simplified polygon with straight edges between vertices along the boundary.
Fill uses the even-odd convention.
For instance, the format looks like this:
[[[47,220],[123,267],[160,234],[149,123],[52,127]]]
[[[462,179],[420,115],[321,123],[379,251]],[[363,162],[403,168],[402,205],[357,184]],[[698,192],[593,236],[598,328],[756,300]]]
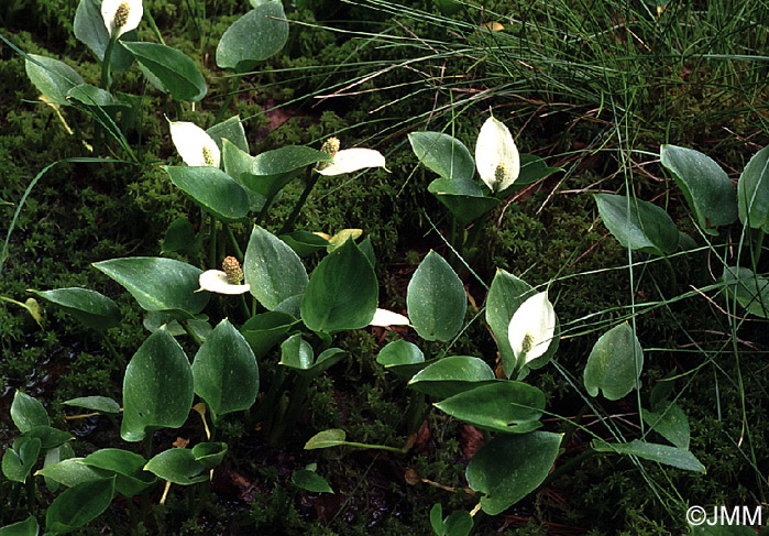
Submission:
[[[499,359],[508,378],[515,371],[516,358],[507,337],[507,329],[520,304],[535,294],[537,291],[524,280],[498,269],[488,289],[486,322],[492,328],[496,346],[499,349]]]

